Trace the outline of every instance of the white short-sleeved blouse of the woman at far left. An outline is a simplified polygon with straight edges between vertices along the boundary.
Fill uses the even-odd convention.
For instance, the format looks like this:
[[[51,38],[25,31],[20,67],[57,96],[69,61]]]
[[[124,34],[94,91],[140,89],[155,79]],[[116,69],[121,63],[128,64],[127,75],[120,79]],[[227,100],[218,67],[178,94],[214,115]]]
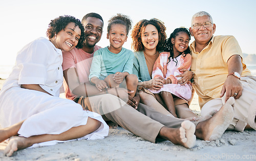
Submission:
[[[38,38],[17,53],[16,64],[1,93],[11,87],[37,84],[53,96],[59,96],[63,82],[61,64],[61,50],[48,39]]]

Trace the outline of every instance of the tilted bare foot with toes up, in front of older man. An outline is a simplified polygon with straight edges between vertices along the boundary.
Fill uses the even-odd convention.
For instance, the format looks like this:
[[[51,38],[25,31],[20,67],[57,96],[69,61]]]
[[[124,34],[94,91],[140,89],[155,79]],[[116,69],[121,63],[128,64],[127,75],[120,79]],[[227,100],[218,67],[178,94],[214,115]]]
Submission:
[[[199,122],[196,127],[197,138],[208,141],[221,138],[234,118],[233,104],[234,98],[230,97],[214,116]]]

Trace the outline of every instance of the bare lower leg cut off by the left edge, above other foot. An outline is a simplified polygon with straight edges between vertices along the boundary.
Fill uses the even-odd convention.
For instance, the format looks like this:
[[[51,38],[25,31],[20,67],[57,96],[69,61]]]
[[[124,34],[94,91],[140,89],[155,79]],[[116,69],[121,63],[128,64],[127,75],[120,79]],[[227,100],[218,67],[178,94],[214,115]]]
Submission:
[[[20,129],[20,126],[22,126],[23,122],[24,121],[21,121],[10,127],[0,129],[0,143],[5,141],[6,139],[11,138],[12,136],[18,135],[18,130]]]

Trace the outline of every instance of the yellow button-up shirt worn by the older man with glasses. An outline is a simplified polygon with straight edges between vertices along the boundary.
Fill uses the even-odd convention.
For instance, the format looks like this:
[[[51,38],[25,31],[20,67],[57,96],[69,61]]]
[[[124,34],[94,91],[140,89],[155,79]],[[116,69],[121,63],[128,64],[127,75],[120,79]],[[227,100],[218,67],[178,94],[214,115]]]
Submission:
[[[233,36],[213,36],[209,44],[196,52],[195,41],[190,44],[192,64],[190,70],[195,73],[193,87],[199,96],[199,105],[211,99],[220,98],[222,86],[228,75],[227,61],[233,55],[242,58],[241,76],[251,75],[244,61],[242,50]]]

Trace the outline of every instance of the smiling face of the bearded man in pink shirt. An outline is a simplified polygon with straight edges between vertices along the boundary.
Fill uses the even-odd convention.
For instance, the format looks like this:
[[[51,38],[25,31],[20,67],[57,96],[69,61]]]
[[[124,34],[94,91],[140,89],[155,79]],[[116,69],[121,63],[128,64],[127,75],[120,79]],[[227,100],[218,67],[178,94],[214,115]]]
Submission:
[[[96,17],[88,17],[84,22],[85,38],[84,46],[94,47],[99,42],[102,35],[103,22]]]

